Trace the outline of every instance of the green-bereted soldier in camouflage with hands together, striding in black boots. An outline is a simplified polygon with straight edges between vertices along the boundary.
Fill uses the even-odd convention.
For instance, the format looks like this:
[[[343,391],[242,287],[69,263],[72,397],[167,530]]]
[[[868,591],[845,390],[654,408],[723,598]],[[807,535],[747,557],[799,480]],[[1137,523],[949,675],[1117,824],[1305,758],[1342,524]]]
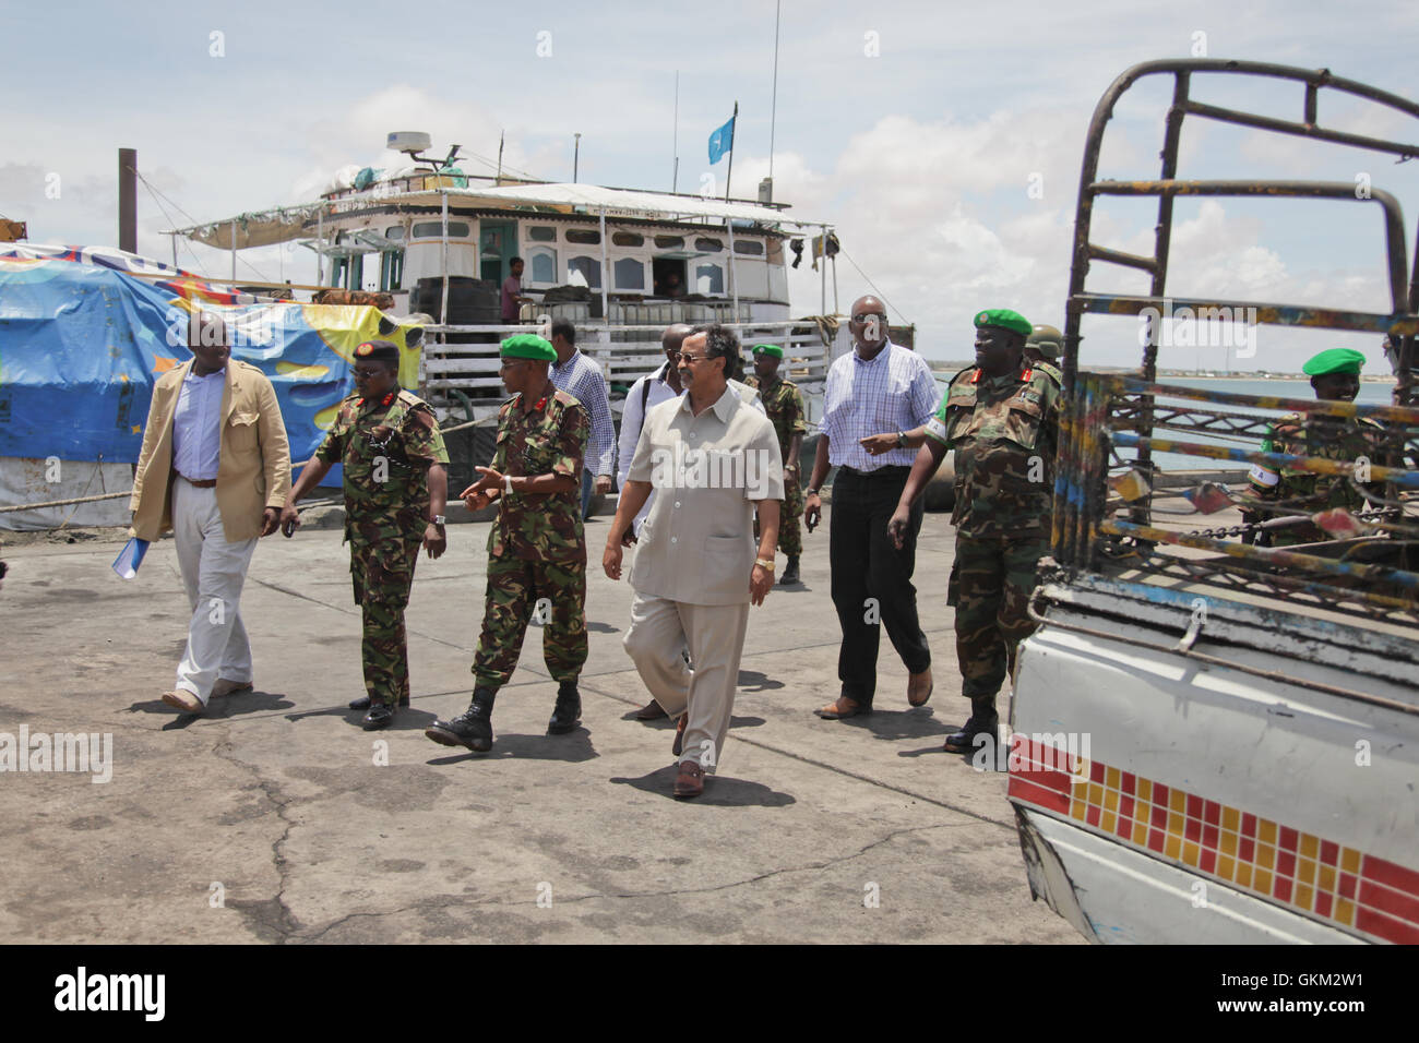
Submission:
[[[548,376],[556,352],[532,333],[502,342],[502,383],[512,397],[498,413],[491,467],[463,491],[470,511],[498,498],[488,532],[488,592],[474,656],[473,702],[424,731],[446,746],[492,749],[492,701],[522,651],[528,623],[543,624],[542,657],[558,681],[549,735],[580,724],[576,680],[586,663],[586,539],[582,534],[582,458],[590,437],[586,407]]]

